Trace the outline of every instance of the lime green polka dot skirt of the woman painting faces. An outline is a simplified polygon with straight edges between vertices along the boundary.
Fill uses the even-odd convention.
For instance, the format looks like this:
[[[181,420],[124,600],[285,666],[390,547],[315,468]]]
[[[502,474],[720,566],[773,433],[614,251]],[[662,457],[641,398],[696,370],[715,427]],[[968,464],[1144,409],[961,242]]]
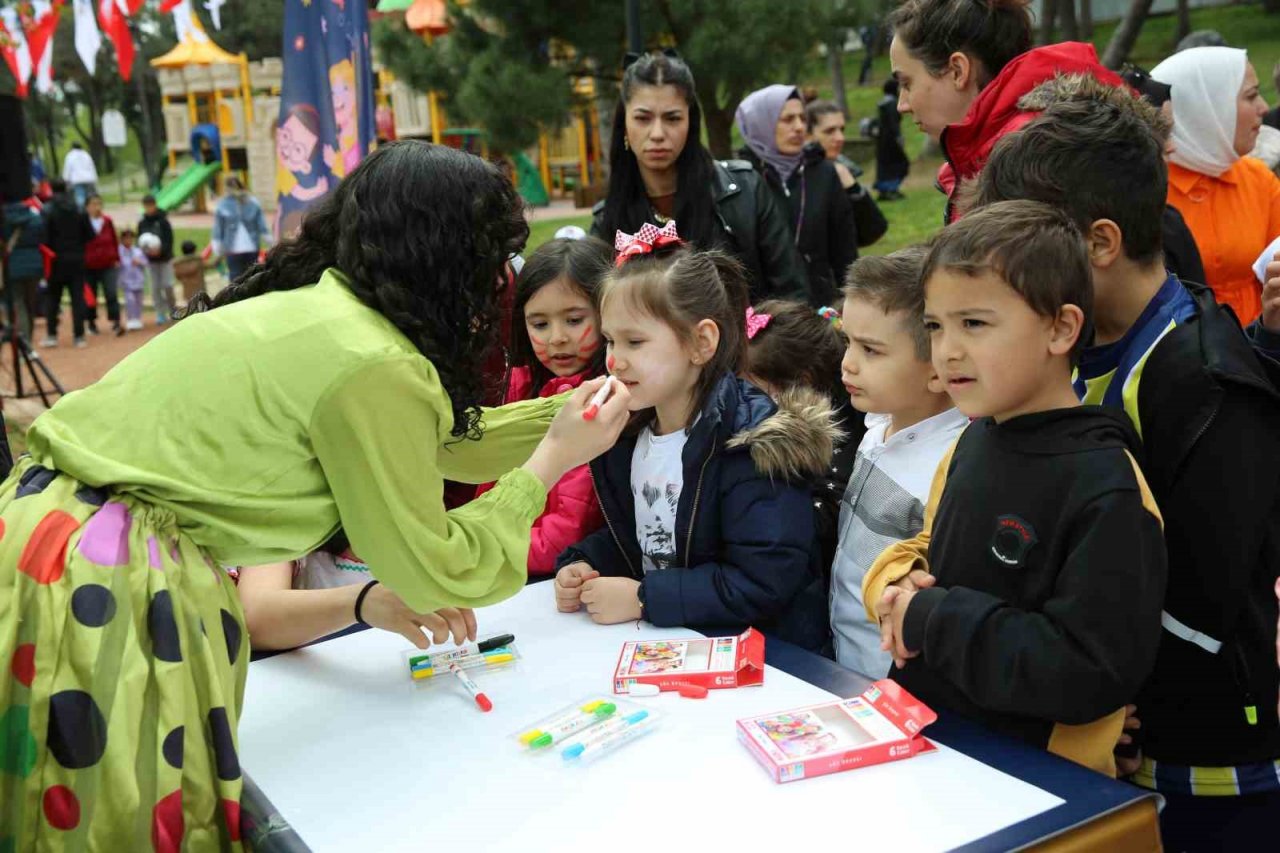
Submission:
[[[0,587],[13,583],[4,573],[17,571],[20,592],[20,606],[4,617],[18,619],[17,626],[0,624],[0,661],[9,670],[0,676],[0,792],[27,790],[35,808],[0,831],[0,853],[31,849],[50,833],[99,849],[145,850],[150,843],[177,853],[210,838],[239,849],[238,712],[229,702],[243,689],[247,638],[225,573],[173,528],[148,529],[143,519],[155,514],[132,511],[127,498],[29,460],[19,470],[17,482],[0,485]],[[201,564],[214,571],[180,571]],[[138,573],[150,579],[138,583]],[[124,658],[100,657],[122,647]],[[82,683],[83,665],[73,660],[132,675]],[[150,716],[140,716],[142,695],[119,693],[138,689],[132,685],[160,697]],[[165,690],[180,698],[165,701]],[[204,710],[188,707],[191,695],[207,702]],[[127,725],[111,713],[125,715]],[[148,725],[160,729],[151,735]],[[159,754],[147,758],[145,749]],[[113,775],[133,779],[147,766],[156,768],[157,795],[138,804],[151,818],[138,826],[137,807],[102,792]],[[147,835],[134,838],[138,831]]]

